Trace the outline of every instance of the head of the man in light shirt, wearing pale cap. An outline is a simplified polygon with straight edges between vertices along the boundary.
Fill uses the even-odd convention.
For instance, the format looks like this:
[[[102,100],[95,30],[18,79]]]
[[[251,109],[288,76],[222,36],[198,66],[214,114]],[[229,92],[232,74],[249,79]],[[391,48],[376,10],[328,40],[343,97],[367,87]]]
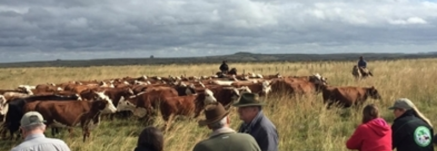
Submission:
[[[43,116],[37,111],[29,111],[21,118],[21,133],[23,138],[30,134],[43,134],[46,130]]]

